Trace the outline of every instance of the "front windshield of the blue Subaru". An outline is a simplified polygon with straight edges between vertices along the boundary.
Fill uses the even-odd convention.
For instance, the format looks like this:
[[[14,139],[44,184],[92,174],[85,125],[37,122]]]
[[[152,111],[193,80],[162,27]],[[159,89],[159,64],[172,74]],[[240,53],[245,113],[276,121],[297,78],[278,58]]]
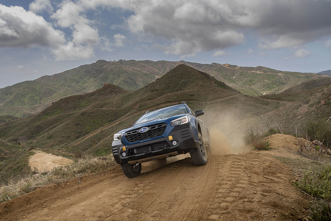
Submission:
[[[159,118],[172,117],[179,114],[188,114],[188,110],[185,107],[185,105],[167,107],[161,110],[152,111],[139,118],[134,125],[141,124],[147,121],[152,121]]]

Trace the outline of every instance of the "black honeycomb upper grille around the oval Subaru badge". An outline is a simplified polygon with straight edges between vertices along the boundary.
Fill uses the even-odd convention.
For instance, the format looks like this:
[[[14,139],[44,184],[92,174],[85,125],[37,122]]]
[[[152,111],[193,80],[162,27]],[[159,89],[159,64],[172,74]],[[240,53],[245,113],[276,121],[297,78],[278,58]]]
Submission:
[[[126,132],[124,134],[124,137],[130,143],[144,140],[144,139],[155,138],[155,137],[161,136],[165,133],[166,126],[167,126],[166,123],[149,125],[149,126],[146,126],[148,128],[148,131],[145,133],[139,132],[139,130],[141,128],[143,128],[143,127],[141,127],[139,129]]]

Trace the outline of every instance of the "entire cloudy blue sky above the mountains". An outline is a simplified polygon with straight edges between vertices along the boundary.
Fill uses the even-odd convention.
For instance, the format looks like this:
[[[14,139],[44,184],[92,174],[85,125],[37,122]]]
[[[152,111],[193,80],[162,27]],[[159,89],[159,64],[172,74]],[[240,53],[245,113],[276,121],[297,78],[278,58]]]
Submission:
[[[331,0],[0,0],[0,88],[97,60],[331,69]]]

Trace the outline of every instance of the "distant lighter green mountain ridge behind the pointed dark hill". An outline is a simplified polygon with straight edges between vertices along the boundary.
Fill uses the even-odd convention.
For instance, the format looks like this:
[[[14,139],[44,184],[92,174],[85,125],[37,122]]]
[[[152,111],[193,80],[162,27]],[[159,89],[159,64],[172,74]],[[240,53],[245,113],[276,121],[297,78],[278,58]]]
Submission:
[[[99,60],[90,65],[43,76],[0,89],[0,115],[16,117],[39,113],[62,97],[101,88],[104,83],[136,90],[155,81],[179,64],[206,72],[248,95],[278,93],[316,76],[313,73],[277,71],[265,67],[238,67],[229,64],[199,64],[185,61]]]

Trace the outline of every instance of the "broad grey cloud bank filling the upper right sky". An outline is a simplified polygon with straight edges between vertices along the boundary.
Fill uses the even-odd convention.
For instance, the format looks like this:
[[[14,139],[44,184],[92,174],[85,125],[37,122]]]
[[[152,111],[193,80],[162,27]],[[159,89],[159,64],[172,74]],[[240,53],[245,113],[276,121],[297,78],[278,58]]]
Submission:
[[[331,34],[330,1],[146,0],[132,4],[127,4],[134,11],[127,19],[130,31],[170,41],[166,53],[191,54],[242,44],[244,30],[262,36],[263,49],[300,47]]]

